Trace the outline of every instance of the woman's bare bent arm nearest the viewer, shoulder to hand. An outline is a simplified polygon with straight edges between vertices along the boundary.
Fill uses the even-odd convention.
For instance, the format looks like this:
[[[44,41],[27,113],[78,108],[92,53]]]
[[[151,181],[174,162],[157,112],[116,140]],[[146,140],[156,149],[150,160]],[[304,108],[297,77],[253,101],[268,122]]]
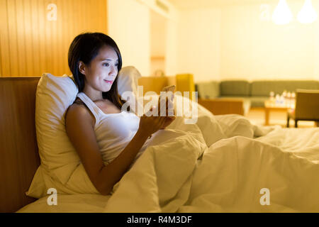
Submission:
[[[118,157],[108,165],[103,164],[99,145],[96,142],[94,118],[82,105],[73,104],[65,117],[67,135],[84,165],[94,187],[101,194],[109,194],[114,184],[128,170],[147,137],[164,124],[164,117],[145,117],[140,120],[140,128]]]

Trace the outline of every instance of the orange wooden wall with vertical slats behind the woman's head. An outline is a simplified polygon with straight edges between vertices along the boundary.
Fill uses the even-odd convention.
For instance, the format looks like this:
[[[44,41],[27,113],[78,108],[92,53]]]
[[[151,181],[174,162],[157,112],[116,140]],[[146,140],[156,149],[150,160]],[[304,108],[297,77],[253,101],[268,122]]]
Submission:
[[[107,33],[107,0],[0,0],[2,77],[69,74],[67,51],[83,32]],[[48,21],[48,4],[57,21]]]

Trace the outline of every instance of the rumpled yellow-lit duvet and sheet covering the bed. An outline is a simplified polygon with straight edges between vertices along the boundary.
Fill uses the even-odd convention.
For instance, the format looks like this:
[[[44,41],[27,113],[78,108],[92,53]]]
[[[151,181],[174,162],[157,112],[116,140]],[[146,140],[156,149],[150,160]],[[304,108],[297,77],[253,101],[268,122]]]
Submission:
[[[196,123],[177,117],[153,135],[111,196],[42,198],[19,212],[319,212],[318,141],[319,128],[256,126],[198,105]]]

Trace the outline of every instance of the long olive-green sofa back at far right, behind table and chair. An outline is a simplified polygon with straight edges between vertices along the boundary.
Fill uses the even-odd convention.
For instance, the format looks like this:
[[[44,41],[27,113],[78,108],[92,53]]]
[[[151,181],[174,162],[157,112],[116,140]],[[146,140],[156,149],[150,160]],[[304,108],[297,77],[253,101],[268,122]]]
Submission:
[[[296,89],[319,89],[315,80],[259,80],[251,84],[251,96],[269,96],[270,92],[282,94],[296,92]]]

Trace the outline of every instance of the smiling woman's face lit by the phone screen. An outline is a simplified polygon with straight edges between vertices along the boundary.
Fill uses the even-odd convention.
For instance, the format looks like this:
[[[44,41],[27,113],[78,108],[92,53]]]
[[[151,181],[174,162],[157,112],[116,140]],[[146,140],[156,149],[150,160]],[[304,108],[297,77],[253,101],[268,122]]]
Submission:
[[[85,66],[86,89],[108,92],[118,74],[118,55],[108,45],[104,45],[99,54]]]

